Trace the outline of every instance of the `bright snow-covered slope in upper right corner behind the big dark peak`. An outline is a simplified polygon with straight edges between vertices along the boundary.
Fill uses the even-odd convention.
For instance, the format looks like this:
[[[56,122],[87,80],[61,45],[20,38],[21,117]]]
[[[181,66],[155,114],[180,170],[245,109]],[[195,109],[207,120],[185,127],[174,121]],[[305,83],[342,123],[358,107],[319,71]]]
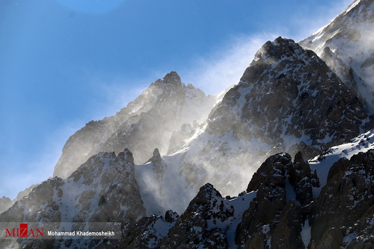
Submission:
[[[355,0],[331,22],[300,41],[325,60],[342,79],[355,88],[374,113],[374,3]]]

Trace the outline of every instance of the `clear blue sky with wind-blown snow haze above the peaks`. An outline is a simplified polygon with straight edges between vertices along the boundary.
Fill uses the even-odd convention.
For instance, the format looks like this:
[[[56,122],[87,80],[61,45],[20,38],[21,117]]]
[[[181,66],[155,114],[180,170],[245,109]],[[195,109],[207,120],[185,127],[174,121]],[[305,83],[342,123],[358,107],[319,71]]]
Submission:
[[[0,0],[0,197],[52,175],[65,141],[177,71],[217,94],[267,40],[350,1]]]

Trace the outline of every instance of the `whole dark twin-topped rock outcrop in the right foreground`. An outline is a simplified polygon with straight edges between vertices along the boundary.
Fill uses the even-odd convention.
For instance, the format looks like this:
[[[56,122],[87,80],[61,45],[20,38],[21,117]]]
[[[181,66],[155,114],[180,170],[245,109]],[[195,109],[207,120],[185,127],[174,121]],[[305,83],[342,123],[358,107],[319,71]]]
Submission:
[[[266,159],[248,184],[247,192],[257,194],[237,226],[236,245],[304,248],[301,231],[312,201],[312,182],[318,181],[315,177],[301,153],[293,163],[288,154]]]

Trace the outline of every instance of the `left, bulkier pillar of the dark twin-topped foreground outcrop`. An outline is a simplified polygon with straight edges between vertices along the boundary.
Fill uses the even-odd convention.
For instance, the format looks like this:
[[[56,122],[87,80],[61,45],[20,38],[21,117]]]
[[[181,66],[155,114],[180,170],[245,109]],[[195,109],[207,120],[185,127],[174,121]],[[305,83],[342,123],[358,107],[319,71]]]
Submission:
[[[292,164],[288,154],[270,156],[248,184],[247,192],[257,191],[236,230],[236,245],[266,248],[287,204],[285,170]]]

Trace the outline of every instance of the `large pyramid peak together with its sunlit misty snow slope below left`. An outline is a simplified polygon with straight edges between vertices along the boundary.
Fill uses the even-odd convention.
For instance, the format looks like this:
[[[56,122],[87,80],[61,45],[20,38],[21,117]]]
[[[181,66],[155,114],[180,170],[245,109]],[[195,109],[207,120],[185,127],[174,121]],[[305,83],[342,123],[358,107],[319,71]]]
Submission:
[[[367,122],[358,96],[322,59],[278,37],[261,47],[206,121],[173,133],[181,142],[163,159],[181,169],[185,188],[197,192],[210,182],[227,195],[243,189],[268,156],[301,151],[311,159],[358,136]]]

